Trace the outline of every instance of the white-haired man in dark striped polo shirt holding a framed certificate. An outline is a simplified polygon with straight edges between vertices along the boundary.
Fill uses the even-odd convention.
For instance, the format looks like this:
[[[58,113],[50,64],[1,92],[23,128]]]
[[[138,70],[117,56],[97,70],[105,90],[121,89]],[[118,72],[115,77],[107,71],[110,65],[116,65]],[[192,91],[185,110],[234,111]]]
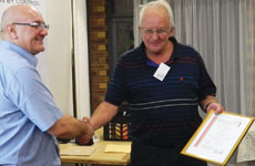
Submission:
[[[129,103],[131,166],[206,166],[180,152],[205,113],[223,106],[198,52],[173,37],[174,21],[165,0],[152,1],[140,12],[143,42],[119,60],[105,100],[94,111],[94,129],[105,125]]]

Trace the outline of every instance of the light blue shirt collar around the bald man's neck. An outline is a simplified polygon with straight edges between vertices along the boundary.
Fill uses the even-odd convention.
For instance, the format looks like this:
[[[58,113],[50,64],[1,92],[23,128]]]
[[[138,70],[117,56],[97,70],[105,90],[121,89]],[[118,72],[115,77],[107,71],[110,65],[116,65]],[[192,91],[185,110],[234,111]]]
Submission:
[[[26,59],[34,68],[37,66],[38,59],[33,54],[31,54],[30,52],[24,50],[23,48],[17,45],[14,43],[11,43],[9,41],[6,41],[6,40],[1,40],[0,44],[3,45],[4,48],[8,48],[8,49],[17,52],[19,55],[21,55],[23,59]]]

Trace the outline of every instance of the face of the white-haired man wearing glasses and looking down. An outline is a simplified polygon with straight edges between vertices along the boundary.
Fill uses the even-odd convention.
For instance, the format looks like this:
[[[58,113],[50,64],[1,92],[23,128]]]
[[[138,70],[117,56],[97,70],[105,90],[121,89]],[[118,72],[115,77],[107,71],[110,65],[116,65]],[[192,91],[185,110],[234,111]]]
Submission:
[[[169,38],[173,35],[169,20],[164,8],[152,7],[144,11],[140,30],[149,54],[162,54],[167,49]]]

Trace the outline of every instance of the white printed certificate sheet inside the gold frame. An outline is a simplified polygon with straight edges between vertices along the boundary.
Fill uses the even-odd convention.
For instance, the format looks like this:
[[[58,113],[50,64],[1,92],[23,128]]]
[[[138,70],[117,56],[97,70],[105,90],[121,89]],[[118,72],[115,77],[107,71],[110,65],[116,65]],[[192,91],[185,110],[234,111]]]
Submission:
[[[249,118],[232,114],[213,115],[202,127],[186,149],[187,154],[200,158],[223,163],[244,129]]]

